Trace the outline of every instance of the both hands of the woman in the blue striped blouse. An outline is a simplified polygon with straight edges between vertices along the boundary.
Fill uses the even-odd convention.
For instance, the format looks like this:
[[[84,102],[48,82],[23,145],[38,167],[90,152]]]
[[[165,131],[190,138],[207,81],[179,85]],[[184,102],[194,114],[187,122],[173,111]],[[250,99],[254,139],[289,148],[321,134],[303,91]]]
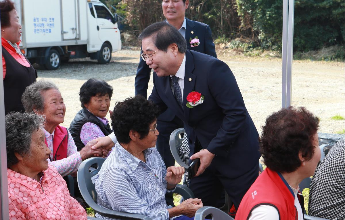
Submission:
[[[167,189],[173,189],[178,183],[180,183],[184,172],[185,168],[183,167],[168,167],[167,174],[165,176],[165,180],[167,181]],[[187,217],[193,217],[195,212],[201,207],[203,207],[203,202],[201,202],[201,199],[187,199],[180,205],[168,209],[169,218],[179,216],[181,214]]]

